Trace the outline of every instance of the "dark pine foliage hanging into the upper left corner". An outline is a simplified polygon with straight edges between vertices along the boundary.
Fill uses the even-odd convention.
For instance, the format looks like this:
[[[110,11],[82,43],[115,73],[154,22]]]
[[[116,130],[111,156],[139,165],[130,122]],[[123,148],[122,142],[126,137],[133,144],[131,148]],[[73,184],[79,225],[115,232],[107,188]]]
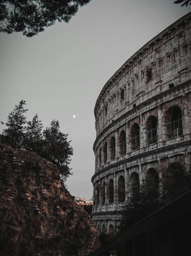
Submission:
[[[68,23],[91,0],[0,0],[0,32],[38,35],[59,22]]]

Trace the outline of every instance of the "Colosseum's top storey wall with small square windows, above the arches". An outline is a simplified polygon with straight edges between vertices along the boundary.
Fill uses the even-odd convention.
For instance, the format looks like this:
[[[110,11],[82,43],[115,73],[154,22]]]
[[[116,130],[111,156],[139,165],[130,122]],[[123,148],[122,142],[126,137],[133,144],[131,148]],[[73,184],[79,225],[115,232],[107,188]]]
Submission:
[[[190,72],[182,76],[190,70],[190,19],[189,13],[151,39],[104,85],[94,108],[97,136],[147,99],[191,79]]]

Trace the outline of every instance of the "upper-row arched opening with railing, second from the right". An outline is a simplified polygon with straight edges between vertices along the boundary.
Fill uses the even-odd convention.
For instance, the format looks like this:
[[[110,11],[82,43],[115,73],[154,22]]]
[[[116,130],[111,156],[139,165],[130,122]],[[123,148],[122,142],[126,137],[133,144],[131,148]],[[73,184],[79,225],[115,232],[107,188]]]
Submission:
[[[151,116],[147,122],[147,145],[157,142],[157,118]]]

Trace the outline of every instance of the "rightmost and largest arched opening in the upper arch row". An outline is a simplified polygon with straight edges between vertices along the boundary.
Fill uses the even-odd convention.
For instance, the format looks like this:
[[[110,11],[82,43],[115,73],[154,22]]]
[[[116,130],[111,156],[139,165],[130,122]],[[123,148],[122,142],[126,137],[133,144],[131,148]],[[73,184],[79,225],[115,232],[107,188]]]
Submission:
[[[165,121],[167,139],[182,135],[182,114],[178,106],[170,107],[166,113]]]

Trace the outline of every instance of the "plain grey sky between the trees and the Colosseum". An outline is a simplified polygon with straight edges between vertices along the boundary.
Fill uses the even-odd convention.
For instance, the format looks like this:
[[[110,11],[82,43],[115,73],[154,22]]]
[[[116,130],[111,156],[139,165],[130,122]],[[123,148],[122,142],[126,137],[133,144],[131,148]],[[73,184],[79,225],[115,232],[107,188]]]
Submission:
[[[67,188],[89,199],[94,105],[102,87],[156,32],[189,11],[173,0],[92,0],[69,24],[56,23],[38,36],[0,33],[0,121],[21,99],[28,121],[36,113],[44,127],[58,119],[74,149]]]

